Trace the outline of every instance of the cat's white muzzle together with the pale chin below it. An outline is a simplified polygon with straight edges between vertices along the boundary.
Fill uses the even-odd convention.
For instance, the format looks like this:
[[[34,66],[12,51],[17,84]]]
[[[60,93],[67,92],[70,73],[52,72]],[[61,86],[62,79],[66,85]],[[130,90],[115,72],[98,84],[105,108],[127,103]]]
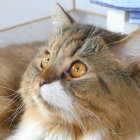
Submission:
[[[60,81],[43,85],[32,98],[43,114],[60,117],[69,122],[78,118],[74,111],[73,100],[64,91]]]

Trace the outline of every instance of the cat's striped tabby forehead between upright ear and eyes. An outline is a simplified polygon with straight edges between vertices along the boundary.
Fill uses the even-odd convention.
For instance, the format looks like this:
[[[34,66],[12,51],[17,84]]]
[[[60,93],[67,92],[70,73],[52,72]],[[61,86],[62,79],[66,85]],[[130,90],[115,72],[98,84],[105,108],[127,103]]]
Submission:
[[[79,24],[60,29],[50,37],[48,49],[54,56],[72,56],[84,44],[92,30],[92,26]]]

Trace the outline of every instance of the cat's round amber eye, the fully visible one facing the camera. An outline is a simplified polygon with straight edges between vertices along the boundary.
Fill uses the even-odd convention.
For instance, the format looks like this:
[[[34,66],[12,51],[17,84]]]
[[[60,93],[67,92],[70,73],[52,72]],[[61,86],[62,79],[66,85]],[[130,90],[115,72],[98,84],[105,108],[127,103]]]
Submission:
[[[81,62],[77,62],[77,63],[73,64],[70,69],[70,74],[73,78],[81,77],[86,72],[87,72],[87,67]]]

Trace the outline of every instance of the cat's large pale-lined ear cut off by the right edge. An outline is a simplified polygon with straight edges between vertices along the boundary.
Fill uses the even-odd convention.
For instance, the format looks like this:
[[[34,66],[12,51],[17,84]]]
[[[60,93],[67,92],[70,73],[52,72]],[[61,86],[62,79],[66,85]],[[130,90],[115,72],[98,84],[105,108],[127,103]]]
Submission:
[[[112,43],[111,48],[119,59],[131,66],[131,69],[140,71],[140,29]]]

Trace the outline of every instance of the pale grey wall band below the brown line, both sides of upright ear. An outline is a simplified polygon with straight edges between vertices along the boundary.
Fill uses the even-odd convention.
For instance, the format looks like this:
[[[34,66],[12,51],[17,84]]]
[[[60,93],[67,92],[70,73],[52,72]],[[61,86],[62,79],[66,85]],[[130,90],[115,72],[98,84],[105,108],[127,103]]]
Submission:
[[[81,12],[70,12],[76,22],[94,24],[106,28],[106,18]],[[13,43],[42,41],[47,39],[53,30],[52,19],[35,22],[26,26],[7,30],[0,33],[0,47]]]

